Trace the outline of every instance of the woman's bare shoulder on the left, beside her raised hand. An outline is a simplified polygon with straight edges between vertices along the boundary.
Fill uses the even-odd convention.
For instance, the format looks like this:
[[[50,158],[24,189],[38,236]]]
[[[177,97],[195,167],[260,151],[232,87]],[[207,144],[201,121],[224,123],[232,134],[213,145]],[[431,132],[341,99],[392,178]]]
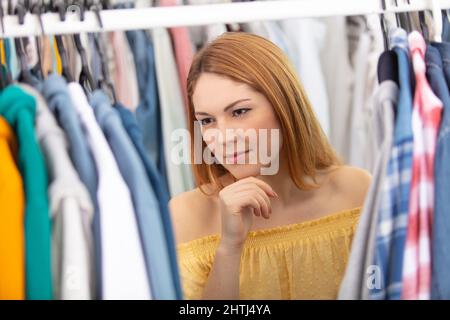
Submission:
[[[173,197],[169,209],[177,244],[217,232],[217,197],[199,188]]]

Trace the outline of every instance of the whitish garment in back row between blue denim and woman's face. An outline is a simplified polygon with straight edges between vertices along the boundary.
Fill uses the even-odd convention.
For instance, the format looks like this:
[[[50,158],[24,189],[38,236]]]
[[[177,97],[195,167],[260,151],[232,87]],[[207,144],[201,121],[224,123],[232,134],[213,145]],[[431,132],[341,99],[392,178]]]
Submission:
[[[183,98],[172,52],[170,36],[166,29],[151,30],[155,46],[156,75],[161,102],[164,152],[171,197],[194,189],[194,177],[190,163],[189,137],[186,117],[183,114]],[[183,132],[177,132],[181,129]],[[181,133],[181,135],[178,135]],[[172,139],[172,134],[174,139]],[[176,139],[178,138],[178,139]],[[182,150],[182,159],[173,159],[174,150]]]

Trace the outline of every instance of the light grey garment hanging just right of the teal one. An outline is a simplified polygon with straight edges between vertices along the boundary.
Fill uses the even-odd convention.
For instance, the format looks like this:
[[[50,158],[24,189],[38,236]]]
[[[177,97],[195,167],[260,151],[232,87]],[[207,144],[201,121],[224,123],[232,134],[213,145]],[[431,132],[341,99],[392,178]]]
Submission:
[[[94,293],[91,199],[70,161],[64,132],[47,103],[35,89],[27,85],[21,88],[36,99],[36,134],[49,170],[54,297],[90,300]]]

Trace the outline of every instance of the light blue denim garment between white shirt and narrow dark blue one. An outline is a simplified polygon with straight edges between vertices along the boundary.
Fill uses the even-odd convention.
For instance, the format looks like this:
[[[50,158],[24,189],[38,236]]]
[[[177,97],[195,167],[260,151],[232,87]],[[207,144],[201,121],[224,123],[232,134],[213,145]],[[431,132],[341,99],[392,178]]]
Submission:
[[[126,133],[117,110],[111,107],[109,98],[97,90],[93,93],[90,104],[130,189],[152,296],[155,299],[175,299],[175,283],[159,203],[147,179],[142,160]]]

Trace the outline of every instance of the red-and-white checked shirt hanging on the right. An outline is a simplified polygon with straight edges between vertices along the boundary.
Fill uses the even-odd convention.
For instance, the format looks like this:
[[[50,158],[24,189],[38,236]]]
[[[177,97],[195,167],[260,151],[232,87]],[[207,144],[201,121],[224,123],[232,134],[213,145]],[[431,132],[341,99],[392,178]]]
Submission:
[[[413,167],[408,229],[403,262],[402,299],[430,299],[431,227],[434,209],[434,157],[442,102],[425,76],[426,44],[414,31],[408,36],[416,88],[412,114]]]

